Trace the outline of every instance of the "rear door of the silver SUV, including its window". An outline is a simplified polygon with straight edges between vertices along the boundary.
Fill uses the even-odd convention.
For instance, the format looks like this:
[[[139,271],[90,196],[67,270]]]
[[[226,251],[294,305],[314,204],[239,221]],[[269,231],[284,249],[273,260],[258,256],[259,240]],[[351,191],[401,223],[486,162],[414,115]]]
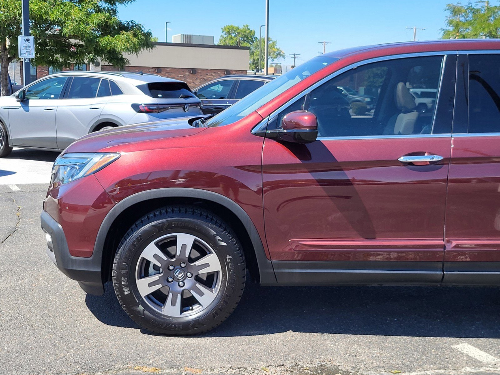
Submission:
[[[109,100],[109,81],[101,78],[74,76],[69,82],[63,103],[57,110],[57,146],[65,148],[75,139],[87,134]]]

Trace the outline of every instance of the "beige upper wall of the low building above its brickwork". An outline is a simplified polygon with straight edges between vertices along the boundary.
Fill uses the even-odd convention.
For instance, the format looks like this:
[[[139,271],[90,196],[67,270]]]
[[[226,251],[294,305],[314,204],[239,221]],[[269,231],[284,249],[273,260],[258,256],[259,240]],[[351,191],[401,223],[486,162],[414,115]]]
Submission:
[[[247,70],[247,47],[207,44],[154,43],[138,55],[125,54],[130,66],[160,66],[195,69]]]

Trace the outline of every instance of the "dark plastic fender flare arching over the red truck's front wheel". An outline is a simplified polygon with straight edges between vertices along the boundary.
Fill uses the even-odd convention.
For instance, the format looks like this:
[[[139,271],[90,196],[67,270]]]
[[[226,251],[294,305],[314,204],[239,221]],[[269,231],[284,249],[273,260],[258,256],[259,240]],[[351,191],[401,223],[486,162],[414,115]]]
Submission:
[[[267,259],[267,256],[265,255],[264,247],[262,245],[262,241],[260,240],[258,231],[255,228],[255,225],[251,221],[248,214],[245,212],[243,208],[239,206],[239,204],[237,204],[233,200],[229,199],[224,195],[208,190],[202,190],[190,187],[165,187],[165,188],[140,191],[135,194],[127,196],[123,200],[120,200],[118,203],[116,203],[104,217],[104,220],[102,220],[100,228],[97,232],[97,237],[95,239],[93,253],[102,254],[109,228],[111,227],[116,217],[126,208],[130,207],[133,204],[140,203],[141,201],[146,201],[155,198],[166,198],[166,197],[203,199],[212,201],[214,203],[218,203],[224,206],[225,208],[229,209],[239,218],[239,220],[245,227],[248,236],[250,237],[253,249],[255,250],[255,257],[257,259],[260,284],[262,285],[276,284],[276,276],[274,274],[272,262],[269,259]]]

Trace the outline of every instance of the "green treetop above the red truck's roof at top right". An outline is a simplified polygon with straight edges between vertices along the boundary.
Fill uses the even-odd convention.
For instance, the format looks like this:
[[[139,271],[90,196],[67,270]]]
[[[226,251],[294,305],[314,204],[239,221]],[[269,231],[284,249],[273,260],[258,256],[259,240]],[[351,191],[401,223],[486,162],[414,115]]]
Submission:
[[[443,39],[499,38],[500,6],[489,1],[447,4],[449,13],[446,27],[441,29]]]

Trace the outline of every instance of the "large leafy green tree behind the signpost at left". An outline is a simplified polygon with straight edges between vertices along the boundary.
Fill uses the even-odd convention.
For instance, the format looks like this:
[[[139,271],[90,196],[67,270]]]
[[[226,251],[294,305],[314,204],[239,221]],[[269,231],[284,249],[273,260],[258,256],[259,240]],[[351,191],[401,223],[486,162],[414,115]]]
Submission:
[[[35,37],[35,65],[57,68],[102,59],[115,66],[123,53],[151,48],[151,32],[134,21],[121,21],[117,5],[134,0],[30,0],[30,32]],[[21,1],[0,0],[0,82],[7,92],[8,64],[17,59]]]

